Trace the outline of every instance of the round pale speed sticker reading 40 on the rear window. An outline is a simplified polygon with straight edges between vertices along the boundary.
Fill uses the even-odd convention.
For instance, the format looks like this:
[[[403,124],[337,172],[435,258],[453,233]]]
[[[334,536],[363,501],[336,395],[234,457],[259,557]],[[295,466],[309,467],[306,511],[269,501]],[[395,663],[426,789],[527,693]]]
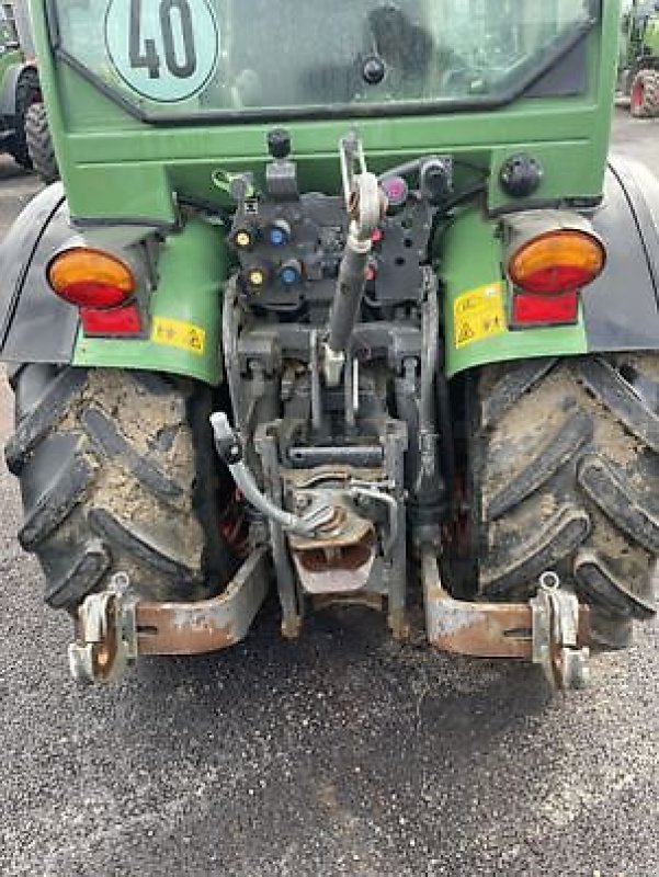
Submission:
[[[217,62],[219,26],[208,0],[110,0],[105,46],[129,89],[158,103],[185,101]]]

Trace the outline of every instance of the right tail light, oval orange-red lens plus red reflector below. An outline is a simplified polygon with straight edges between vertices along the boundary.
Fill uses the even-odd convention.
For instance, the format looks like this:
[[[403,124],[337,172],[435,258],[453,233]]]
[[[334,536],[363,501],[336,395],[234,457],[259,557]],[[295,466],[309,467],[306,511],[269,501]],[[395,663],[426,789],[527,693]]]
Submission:
[[[518,242],[508,259],[512,327],[577,322],[579,293],[605,262],[601,240],[584,228],[550,228]]]

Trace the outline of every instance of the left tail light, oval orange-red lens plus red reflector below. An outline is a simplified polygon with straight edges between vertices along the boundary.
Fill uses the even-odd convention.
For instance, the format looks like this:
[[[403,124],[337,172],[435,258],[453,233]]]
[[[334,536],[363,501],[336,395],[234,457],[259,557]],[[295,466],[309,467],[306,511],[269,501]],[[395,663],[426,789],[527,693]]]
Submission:
[[[133,300],[136,289],[132,269],[111,253],[73,247],[58,253],[48,265],[53,292],[80,308],[88,335],[135,335],[141,319]]]

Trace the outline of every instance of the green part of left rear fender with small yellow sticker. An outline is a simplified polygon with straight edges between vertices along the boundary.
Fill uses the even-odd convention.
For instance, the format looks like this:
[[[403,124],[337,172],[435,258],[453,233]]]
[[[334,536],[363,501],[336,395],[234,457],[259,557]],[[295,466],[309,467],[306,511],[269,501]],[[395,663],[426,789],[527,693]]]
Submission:
[[[73,365],[146,368],[218,384],[220,301],[227,262],[220,230],[200,219],[190,220],[162,244],[158,285],[149,300],[149,337],[86,338],[80,328]]]

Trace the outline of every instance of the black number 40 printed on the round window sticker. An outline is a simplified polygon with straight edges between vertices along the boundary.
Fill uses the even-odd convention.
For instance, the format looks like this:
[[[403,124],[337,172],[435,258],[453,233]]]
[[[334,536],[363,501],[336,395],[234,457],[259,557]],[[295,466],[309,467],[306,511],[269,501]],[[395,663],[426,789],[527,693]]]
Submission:
[[[178,12],[178,24],[183,45],[183,58],[177,57],[174,46],[173,12]],[[172,76],[188,79],[196,70],[196,52],[192,30],[192,13],[188,0],[160,0],[160,31],[164,47],[164,64]],[[146,67],[149,79],[160,79],[160,56],[152,37],[141,39],[141,0],[130,0],[130,67]]]

